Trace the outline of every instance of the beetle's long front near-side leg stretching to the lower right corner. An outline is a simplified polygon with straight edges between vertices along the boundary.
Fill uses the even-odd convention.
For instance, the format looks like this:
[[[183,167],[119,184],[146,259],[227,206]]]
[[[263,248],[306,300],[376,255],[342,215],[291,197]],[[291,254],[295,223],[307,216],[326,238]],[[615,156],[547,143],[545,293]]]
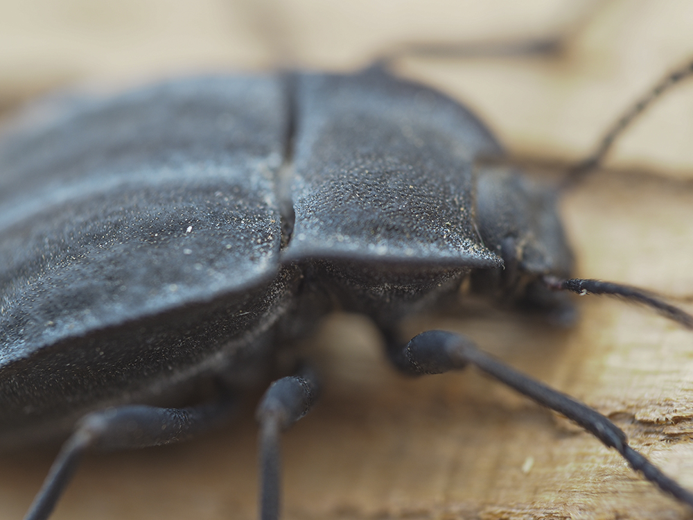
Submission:
[[[693,507],[693,493],[631,448],[626,434],[604,415],[484,354],[466,336],[446,331],[427,331],[414,337],[405,347],[390,347],[389,354],[400,370],[412,375],[441,374],[449,370],[462,370],[468,364],[476,365],[493,379],[576,422],[606,447],[618,451],[635,471],[640,471],[663,492]]]

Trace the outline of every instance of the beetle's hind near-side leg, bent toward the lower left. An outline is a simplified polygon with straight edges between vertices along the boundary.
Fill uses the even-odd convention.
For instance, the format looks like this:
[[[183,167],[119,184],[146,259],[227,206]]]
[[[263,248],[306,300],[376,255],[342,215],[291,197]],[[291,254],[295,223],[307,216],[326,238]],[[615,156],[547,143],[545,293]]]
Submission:
[[[45,520],[51,515],[85,451],[170,444],[224,422],[233,409],[225,396],[190,408],[125,405],[85,415],[63,444],[24,520]]]

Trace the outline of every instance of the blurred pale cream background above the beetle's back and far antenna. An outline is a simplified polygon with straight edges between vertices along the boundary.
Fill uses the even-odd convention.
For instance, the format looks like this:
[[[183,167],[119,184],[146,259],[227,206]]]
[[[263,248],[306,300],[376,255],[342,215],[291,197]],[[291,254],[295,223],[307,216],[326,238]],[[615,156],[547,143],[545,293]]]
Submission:
[[[281,58],[348,71],[410,42],[563,36],[565,52],[553,58],[400,65],[472,105],[517,153],[576,157],[653,80],[690,58],[692,15],[685,0],[3,0],[0,103],[71,83],[271,69]],[[615,159],[687,169],[693,122],[678,116],[691,113],[690,92],[681,87],[659,103]]]

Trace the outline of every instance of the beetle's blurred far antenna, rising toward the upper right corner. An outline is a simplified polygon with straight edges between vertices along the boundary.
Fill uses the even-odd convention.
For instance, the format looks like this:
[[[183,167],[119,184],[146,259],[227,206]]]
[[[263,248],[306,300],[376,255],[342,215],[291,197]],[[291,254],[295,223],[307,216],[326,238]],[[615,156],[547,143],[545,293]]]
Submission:
[[[633,121],[638,119],[642,112],[647,110],[647,108],[657,101],[658,98],[663,96],[665,92],[691,75],[693,75],[693,60],[687,62],[683,67],[669,72],[664,78],[659,80],[647,94],[642,96],[637,103],[631,105],[626,112],[611,125],[611,128],[607,130],[602,140],[599,141],[599,145],[592,155],[568,169],[568,176],[563,181],[563,188],[572,187],[574,184],[581,182],[589,173],[592,173],[602,166],[604,157],[611,151],[614,142],[621,137],[623,132],[629,128]]]

